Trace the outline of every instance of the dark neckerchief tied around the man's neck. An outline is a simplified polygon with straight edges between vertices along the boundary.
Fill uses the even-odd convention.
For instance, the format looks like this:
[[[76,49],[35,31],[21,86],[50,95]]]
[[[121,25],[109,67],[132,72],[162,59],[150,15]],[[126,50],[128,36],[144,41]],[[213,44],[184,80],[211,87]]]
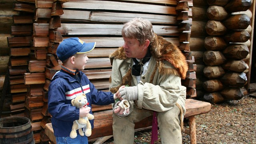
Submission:
[[[150,52],[150,48],[148,48],[148,52],[146,54],[146,56],[144,56],[144,58],[142,58],[142,60],[140,62],[138,62],[138,60],[136,60],[136,58],[132,58],[133,61],[135,62],[135,64],[132,66],[132,75],[134,76],[140,76],[142,74],[142,66],[144,66],[144,64],[146,62],[148,62],[151,58],[152,54]]]

